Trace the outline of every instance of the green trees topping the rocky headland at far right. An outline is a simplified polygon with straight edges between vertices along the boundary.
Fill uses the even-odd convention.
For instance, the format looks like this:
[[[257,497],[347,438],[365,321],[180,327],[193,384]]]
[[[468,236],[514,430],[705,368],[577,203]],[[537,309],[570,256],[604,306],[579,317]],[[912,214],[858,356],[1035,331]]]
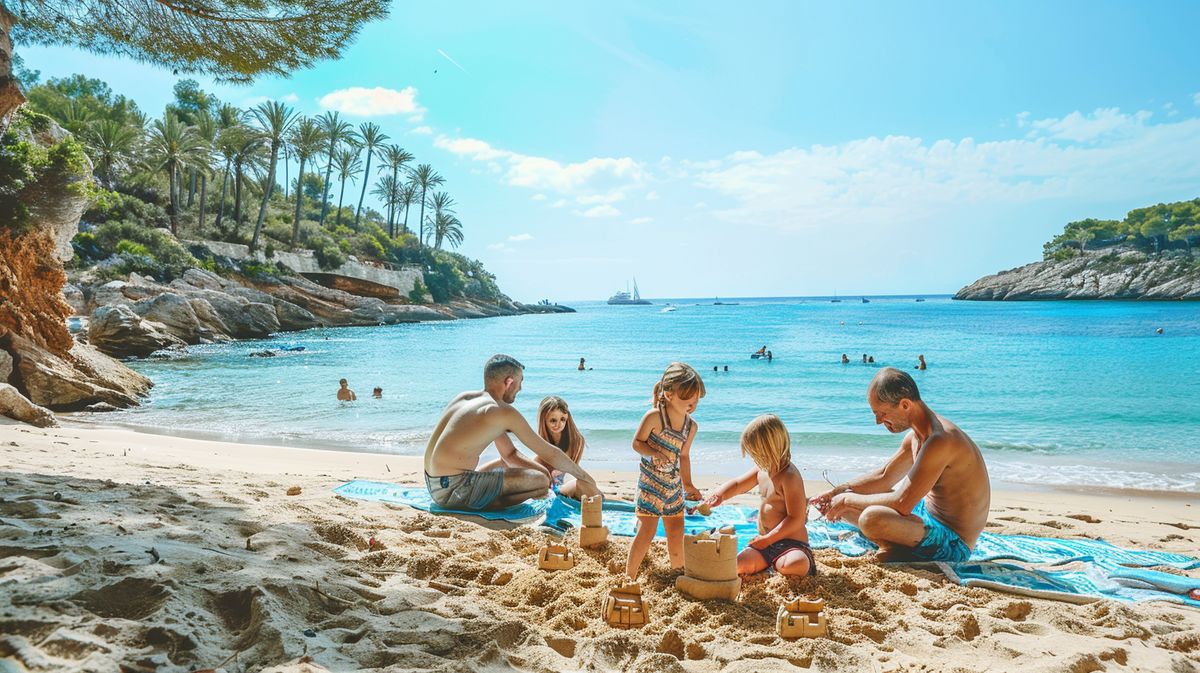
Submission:
[[[1124,245],[1154,254],[1182,248],[1192,259],[1192,247],[1198,242],[1200,198],[1134,209],[1124,220],[1087,218],[1070,222],[1062,234],[1043,246],[1043,258],[1061,262],[1091,251]],[[1100,262],[1120,265],[1124,263],[1124,258],[1117,259],[1116,253],[1108,253]]]

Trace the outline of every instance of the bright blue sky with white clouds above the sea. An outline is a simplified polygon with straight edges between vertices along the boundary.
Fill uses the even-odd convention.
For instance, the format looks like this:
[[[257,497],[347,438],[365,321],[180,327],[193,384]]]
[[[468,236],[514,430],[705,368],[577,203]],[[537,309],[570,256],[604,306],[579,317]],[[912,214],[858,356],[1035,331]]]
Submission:
[[[379,124],[520,301],[937,294],[1200,197],[1196,25],[1186,1],[396,2],[338,60],[193,78]],[[18,49],[149,114],[191,77]]]

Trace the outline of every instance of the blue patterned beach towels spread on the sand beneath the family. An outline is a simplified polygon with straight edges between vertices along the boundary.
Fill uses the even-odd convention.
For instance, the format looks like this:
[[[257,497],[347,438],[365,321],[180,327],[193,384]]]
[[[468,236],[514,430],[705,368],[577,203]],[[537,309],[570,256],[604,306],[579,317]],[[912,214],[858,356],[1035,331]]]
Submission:
[[[494,512],[445,510],[430,500],[425,488],[404,488],[378,481],[352,481],[334,489],[348,498],[398,503],[433,513],[466,513],[488,519],[533,523],[566,530],[582,524],[580,504],[554,494]],[[758,534],[758,511],[739,505],[722,505],[712,516],[688,515],[684,530],[696,534],[732,525],[738,534],[738,551]],[[632,536],[637,531],[634,504],[605,500],[604,524],[613,535]],[[812,517],[808,522],[809,545],[814,549],[836,549],[847,557],[860,557],[877,547],[848,523],[830,523]],[[666,531],[659,522],[656,536]],[[1013,563],[998,563],[1001,560]],[[1170,601],[1200,608],[1200,601],[1187,595],[1200,588],[1200,578],[1181,577],[1147,570],[1153,566],[1192,570],[1200,560],[1168,552],[1127,549],[1103,540],[1064,540],[1030,535],[983,533],[971,559],[965,563],[938,563],[953,582],[965,587],[985,587],[1043,599],[1091,602],[1098,599],[1120,601]]]

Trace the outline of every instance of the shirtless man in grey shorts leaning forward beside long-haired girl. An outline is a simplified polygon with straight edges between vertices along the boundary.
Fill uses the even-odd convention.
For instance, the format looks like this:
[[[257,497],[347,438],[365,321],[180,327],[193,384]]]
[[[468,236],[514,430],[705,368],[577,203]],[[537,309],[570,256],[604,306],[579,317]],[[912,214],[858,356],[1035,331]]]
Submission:
[[[517,452],[510,432],[548,465],[574,476],[581,495],[600,493],[588,473],[539,437],[512,407],[524,380],[523,369],[524,365],[509,355],[493,355],[484,365],[484,390],[458,395],[442,413],[425,449],[425,486],[438,505],[499,510],[546,495],[550,475]],[[479,456],[493,441],[508,467],[475,471]]]

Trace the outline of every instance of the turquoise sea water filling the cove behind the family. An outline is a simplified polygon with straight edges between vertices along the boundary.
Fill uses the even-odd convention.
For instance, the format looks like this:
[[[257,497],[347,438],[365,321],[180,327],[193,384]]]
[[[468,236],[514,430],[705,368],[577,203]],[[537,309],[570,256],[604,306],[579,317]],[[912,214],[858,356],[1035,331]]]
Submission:
[[[1200,305],[722,301],[737,305],[580,302],[574,314],[319,329],[192,347],[186,356],[131,365],[156,384],[145,405],[82,417],[419,455],[445,403],[480,387],[484,361],[508,353],[527,367],[517,407],[530,423],[538,402],[559,395],[588,440],[584,465],[634,469],[630,439],[650,389],[667,363],[682,360],[708,389],[695,414],[694,470],[732,475],[748,467],[739,433],[754,416],[774,413],[792,433],[805,476],[839,481],[898,446],[899,435],[875,426],[865,398],[870,378],[890,365],[911,371],[925,401],[974,438],[995,481],[1200,492]],[[774,361],[750,359],[763,344]],[[247,356],[293,345],[305,350]],[[864,353],[875,365],[860,362]],[[913,369],[918,354],[929,362],[924,372]],[[592,369],[576,369],[581,356]],[[335,401],[342,377],[358,402]],[[371,398],[377,385],[382,399]]]

